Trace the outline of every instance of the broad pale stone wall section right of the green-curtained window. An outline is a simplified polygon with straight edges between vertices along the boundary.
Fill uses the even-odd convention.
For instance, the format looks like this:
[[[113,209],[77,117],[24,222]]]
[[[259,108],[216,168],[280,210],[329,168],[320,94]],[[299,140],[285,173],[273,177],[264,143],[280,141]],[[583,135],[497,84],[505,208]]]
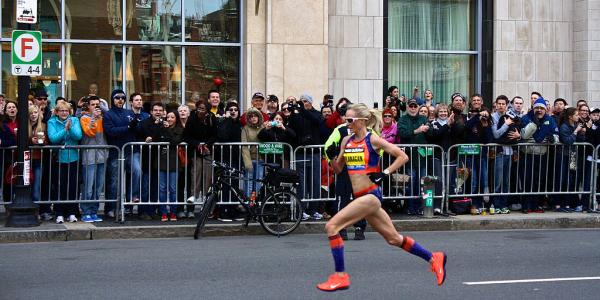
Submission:
[[[572,41],[572,0],[495,1],[494,95],[572,102]]]

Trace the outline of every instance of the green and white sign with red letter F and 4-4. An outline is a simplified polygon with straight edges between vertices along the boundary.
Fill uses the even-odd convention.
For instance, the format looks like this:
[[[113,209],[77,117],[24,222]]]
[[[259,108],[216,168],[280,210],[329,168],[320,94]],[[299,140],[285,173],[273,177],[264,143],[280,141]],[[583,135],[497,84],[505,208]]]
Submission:
[[[15,76],[42,75],[42,33],[13,30],[12,74]]]

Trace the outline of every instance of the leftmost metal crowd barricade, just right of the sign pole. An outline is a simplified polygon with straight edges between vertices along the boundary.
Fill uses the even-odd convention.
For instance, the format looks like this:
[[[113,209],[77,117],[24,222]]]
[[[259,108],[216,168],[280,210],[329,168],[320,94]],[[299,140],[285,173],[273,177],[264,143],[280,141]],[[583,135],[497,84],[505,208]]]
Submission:
[[[59,156],[63,151],[74,150],[77,152],[77,160],[70,164],[60,163]],[[49,205],[54,204],[70,204],[70,203],[118,203],[119,199],[107,199],[106,191],[108,186],[104,184],[104,188],[94,195],[95,184],[98,181],[87,182],[85,180],[85,168],[90,164],[84,165],[82,158],[84,155],[93,156],[94,164],[102,164],[104,173],[106,173],[106,158],[109,151],[117,151],[120,149],[111,145],[47,145],[47,146],[31,146],[31,189],[32,193],[39,193],[39,197],[35,203],[40,205],[40,211],[47,210]],[[93,152],[92,152],[93,151]],[[104,153],[104,154],[101,154]],[[74,177],[74,179],[73,179]],[[94,179],[96,176],[94,174]],[[104,182],[105,178],[100,178]],[[88,184],[90,184],[88,186]],[[35,191],[38,189],[37,192]],[[90,189],[92,195],[88,195],[92,199],[86,199],[86,188]],[[73,192],[74,191],[74,192]],[[70,194],[75,194],[72,198]],[[116,194],[118,195],[118,193]],[[42,209],[44,205],[48,205],[48,209]]]

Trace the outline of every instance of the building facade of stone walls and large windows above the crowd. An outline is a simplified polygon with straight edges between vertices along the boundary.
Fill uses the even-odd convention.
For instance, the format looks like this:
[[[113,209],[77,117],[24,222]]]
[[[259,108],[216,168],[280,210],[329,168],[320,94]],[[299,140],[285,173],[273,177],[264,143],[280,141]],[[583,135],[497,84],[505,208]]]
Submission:
[[[14,0],[2,1],[0,90]],[[387,88],[600,104],[600,0],[45,0],[44,75],[76,99],[92,83],[185,103],[310,93],[381,103]],[[64,68],[62,66],[65,66]]]

